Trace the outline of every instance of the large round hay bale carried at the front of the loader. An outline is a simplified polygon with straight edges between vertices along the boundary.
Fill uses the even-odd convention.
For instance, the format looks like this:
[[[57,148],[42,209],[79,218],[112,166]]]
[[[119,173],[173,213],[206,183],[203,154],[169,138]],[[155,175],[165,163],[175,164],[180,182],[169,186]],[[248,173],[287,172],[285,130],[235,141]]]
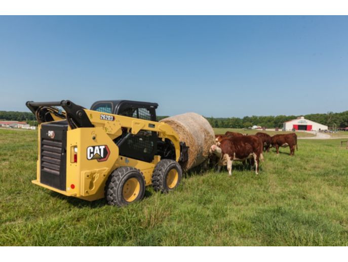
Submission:
[[[185,142],[188,149],[188,160],[182,168],[187,171],[197,167],[208,159],[209,148],[215,143],[214,130],[209,122],[196,113],[185,113],[162,119],[178,134],[179,140]]]

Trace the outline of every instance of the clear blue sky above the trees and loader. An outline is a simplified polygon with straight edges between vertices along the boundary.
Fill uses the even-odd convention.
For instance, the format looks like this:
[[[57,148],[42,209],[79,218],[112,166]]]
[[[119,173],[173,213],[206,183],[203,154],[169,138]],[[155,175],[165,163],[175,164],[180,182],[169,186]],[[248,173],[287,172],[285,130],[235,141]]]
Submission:
[[[158,102],[158,115],[348,110],[348,17],[0,17],[0,110]]]

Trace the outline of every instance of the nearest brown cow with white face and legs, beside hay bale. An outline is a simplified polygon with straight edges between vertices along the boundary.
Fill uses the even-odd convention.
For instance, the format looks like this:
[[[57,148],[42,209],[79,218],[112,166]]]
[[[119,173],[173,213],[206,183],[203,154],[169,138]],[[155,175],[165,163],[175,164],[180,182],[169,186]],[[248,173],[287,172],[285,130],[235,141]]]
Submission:
[[[262,141],[259,137],[240,136],[224,138],[220,142],[210,147],[209,152],[218,157],[218,169],[220,172],[222,166],[227,166],[228,175],[232,175],[232,164],[234,161],[252,159],[255,163],[255,173],[258,174],[260,160],[263,160]]]

